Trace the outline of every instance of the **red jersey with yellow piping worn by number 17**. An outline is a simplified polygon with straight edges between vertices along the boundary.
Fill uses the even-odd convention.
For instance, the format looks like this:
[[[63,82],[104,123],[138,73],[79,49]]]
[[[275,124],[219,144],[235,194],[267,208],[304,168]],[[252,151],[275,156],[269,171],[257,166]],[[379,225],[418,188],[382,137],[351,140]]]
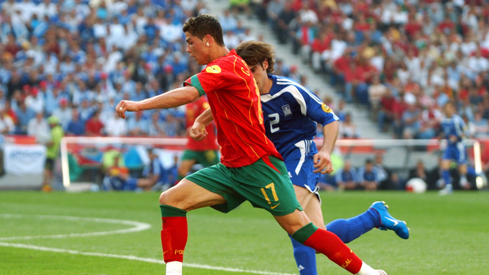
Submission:
[[[201,95],[207,94],[217,141],[221,146],[221,163],[226,167],[243,167],[264,155],[282,160],[265,135],[257,84],[246,62],[231,50],[185,81]]]

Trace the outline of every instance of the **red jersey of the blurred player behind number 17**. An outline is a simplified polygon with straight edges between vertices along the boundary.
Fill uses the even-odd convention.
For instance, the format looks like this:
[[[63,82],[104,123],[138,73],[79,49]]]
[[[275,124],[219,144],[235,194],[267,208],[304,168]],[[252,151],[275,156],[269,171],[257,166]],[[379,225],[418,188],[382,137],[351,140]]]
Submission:
[[[199,97],[196,101],[187,104],[187,129],[190,129],[190,127],[194,125],[195,119],[209,107],[210,106],[206,97]],[[219,149],[216,142],[216,129],[214,129],[214,123],[210,123],[209,125],[205,126],[205,130],[207,130],[207,138],[200,142],[190,138],[190,135],[187,137],[187,149],[192,151]]]

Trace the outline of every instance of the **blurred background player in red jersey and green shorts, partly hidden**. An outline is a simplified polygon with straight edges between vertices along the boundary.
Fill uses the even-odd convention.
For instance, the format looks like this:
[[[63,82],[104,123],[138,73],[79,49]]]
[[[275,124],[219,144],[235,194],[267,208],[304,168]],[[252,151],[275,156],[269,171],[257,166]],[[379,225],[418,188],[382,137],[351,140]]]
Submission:
[[[199,97],[199,99],[196,101],[187,104],[186,107],[187,129],[190,131],[196,117],[210,108],[210,105],[209,102],[207,102],[206,97]],[[219,156],[217,152],[219,147],[216,143],[214,123],[205,126],[205,134],[207,134],[207,138],[209,138],[209,140],[206,139],[202,142],[197,142],[188,136],[188,143],[187,146],[185,146],[185,151],[183,151],[180,166],[178,166],[178,178],[175,184],[180,180],[183,180],[183,178],[187,176],[190,169],[192,169],[192,166],[196,163],[202,164],[203,167],[210,167],[219,163]]]

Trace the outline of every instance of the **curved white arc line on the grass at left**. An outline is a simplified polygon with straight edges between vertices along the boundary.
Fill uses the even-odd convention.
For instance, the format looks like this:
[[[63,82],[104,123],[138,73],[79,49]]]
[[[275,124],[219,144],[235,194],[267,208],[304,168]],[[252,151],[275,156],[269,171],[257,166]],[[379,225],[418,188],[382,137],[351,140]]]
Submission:
[[[131,225],[133,227],[128,229],[119,229],[112,231],[100,231],[90,233],[72,233],[72,234],[59,234],[59,235],[47,235],[47,236],[23,236],[23,237],[7,237],[0,238],[0,240],[33,240],[43,238],[80,238],[80,237],[95,237],[95,236],[107,236],[113,234],[127,234],[132,232],[144,231],[151,228],[151,225],[145,222],[133,222],[131,220],[111,220],[107,218],[82,218],[71,216],[43,216],[43,215],[11,215],[0,214],[0,218],[39,218],[43,220],[68,220],[75,222],[99,222],[99,223],[111,223],[116,225]]]

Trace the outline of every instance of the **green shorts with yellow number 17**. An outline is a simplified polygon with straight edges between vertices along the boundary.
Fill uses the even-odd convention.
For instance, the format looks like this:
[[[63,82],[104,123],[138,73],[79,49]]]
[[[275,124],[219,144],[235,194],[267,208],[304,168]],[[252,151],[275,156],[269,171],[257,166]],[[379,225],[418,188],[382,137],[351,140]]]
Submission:
[[[273,216],[285,216],[295,209],[302,211],[284,162],[272,156],[238,168],[219,163],[196,171],[186,179],[223,196],[227,202],[212,207],[223,213],[235,209],[245,200]]]

